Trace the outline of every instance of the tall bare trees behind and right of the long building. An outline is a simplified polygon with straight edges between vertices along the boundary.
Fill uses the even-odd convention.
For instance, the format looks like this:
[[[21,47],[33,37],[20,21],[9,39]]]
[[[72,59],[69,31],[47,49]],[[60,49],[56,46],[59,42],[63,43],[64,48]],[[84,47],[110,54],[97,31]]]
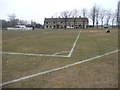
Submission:
[[[119,17],[119,8],[116,7],[115,11],[112,11],[111,9],[104,9],[99,7],[98,5],[94,5],[90,10],[87,10],[86,8],[83,8],[81,10],[73,9],[73,10],[64,10],[60,13],[59,17],[65,18],[67,21],[67,18],[88,18],[92,22],[92,27],[108,27],[111,25],[119,26],[118,25],[118,19]]]

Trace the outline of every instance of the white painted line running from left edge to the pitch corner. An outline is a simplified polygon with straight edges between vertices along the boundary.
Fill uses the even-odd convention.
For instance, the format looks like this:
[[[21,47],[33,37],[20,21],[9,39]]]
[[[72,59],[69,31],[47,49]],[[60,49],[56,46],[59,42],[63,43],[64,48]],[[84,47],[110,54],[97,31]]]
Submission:
[[[12,54],[12,55],[27,55],[27,56],[52,56],[52,57],[68,57],[66,55],[49,55],[49,54],[33,54],[33,53],[16,53],[16,52],[0,52],[0,54]]]

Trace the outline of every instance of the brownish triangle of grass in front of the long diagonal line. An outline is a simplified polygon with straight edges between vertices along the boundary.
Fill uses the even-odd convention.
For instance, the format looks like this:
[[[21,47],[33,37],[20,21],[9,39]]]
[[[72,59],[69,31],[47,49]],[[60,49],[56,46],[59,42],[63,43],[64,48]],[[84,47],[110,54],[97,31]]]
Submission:
[[[117,88],[118,54],[86,62],[5,87],[14,88]]]

